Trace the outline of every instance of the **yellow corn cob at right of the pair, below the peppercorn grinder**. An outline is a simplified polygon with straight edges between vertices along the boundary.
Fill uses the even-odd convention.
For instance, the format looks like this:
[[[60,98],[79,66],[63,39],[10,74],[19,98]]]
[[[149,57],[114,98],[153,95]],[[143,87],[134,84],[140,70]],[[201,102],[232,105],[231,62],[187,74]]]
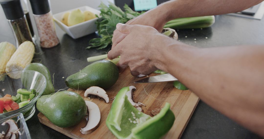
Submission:
[[[34,53],[35,46],[32,42],[25,41],[21,43],[16,52],[7,62],[6,72],[23,70],[29,63],[31,63]],[[14,79],[20,78],[20,74],[18,74],[18,72],[8,73],[7,75]]]

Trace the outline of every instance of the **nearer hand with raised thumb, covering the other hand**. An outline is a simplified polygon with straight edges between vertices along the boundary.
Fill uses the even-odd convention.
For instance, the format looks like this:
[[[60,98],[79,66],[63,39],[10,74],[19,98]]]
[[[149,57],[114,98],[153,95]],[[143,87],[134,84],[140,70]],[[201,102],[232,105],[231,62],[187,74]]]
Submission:
[[[155,28],[143,25],[127,25],[118,23],[117,31],[126,34],[126,37],[108,52],[108,58],[120,57],[117,66],[119,70],[130,67],[131,74],[148,75],[157,70],[156,65],[161,64],[162,46],[166,45],[166,40],[173,40]]]

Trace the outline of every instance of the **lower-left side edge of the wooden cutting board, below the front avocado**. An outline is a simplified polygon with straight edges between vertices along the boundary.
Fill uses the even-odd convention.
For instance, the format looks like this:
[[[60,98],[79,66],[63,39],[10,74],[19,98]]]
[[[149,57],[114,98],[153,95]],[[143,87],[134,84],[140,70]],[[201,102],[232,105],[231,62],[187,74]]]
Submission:
[[[58,132],[62,133],[63,135],[68,136],[70,138],[83,139],[83,138],[81,138],[75,134],[71,134],[71,132],[69,132],[67,130],[63,130],[63,128],[60,128],[60,127],[56,128],[57,126],[55,126],[50,121],[46,121],[46,120],[41,119],[42,118],[41,115],[43,115],[43,114],[40,112],[37,116],[39,117],[39,122],[42,123],[43,125],[48,126],[48,127],[52,128],[53,130],[58,131]]]

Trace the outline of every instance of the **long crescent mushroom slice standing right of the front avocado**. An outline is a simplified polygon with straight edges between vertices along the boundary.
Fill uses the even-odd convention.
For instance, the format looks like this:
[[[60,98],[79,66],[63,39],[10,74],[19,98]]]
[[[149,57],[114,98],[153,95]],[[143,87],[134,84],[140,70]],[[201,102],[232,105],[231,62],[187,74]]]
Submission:
[[[81,128],[82,134],[89,134],[96,130],[96,128],[99,126],[100,120],[101,120],[101,113],[99,107],[91,102],[91,101],[85,101],[86,106],[88,107],[89,111],[89,120],[86,123],[86,126]]]

